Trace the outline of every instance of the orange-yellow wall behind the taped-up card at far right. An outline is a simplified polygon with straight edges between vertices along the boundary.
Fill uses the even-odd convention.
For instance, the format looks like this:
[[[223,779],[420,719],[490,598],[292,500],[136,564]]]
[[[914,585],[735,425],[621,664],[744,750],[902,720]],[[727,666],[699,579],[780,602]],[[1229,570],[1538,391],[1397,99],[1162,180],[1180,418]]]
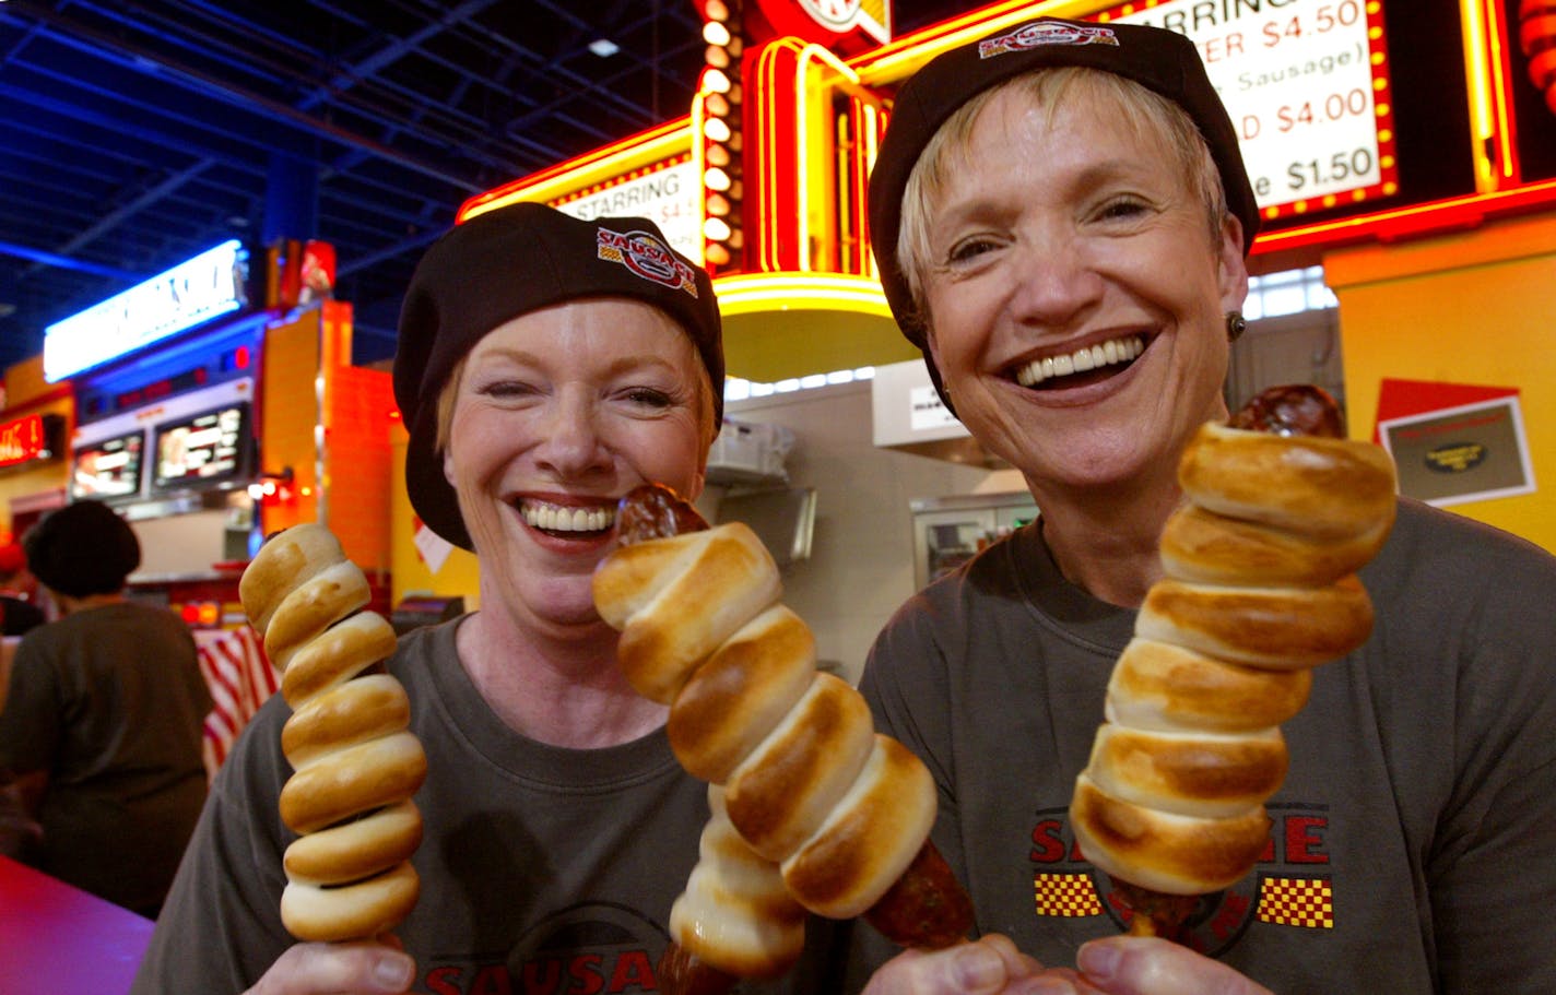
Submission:
[[[1516,387],[1536,490],[1450,505],[1556,552],[1556,216],[1324,257],[1340,297],[1349,432],[1385,378]]]

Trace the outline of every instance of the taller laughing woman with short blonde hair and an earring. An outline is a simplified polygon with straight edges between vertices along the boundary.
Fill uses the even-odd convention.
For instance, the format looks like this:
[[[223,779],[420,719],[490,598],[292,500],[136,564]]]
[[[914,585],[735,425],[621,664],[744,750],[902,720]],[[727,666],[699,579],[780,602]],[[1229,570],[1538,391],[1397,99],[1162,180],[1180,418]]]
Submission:
[[[879,728],[937,776],[934,840],[979,928],[1044,962],[1078,950],[1097,979],[1100,955],[1109,984],[1153,992],[1259,990],[1226,965],[1277,992],[1556,990],[1544,911],[1556,894],[1556,561],[1408,499],[1362,572],[1371,641],[1321,667],[1285,723],[1270,860],[1246,882],[1296,880],[1329,905],[1304,927],[1268,892],[1207,897],[1192,942],[1225,964],[1159,941],[1091,945],[1120,928],[1100,909],[1044,914],[1044,880],[1091,871],[1072,857],[1075,776],[1161,577],[1178,456],[1228,415],[1257,218],[1232,126],[1183,36],[1039,19],[902,87],[870,188],[887,298],[1041,518],[912,599],[862,689]],[[1102,362],[1075,362],[1097,347]],[[1106,875],[1094,880],[1106,905]],[[870,990],[934,990],[960,953],[898,958]],[[1007,978],[1029,990],[1019,970]]]

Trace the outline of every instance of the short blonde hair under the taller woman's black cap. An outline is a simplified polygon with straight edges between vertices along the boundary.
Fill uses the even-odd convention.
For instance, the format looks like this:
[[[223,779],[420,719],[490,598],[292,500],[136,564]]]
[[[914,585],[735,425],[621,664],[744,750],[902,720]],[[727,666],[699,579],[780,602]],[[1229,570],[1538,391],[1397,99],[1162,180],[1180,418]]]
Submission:
[[[1211,244],[1220,244],[1221,225],[1228,216],[1226,190],[1211,157],[1211,146],[1183,107],[1116,73],[1071,65],[1035,70],[990,87],[962,104],[924,146],[907,179],[896,260],[912,294],[913,316],[921,326],[929,328],[924,275],[932,263],[930,211],[944,194],[952,173],[963,165],[983,109],[1007,90],[1019,90],[1043,107],[1057,107],[1072,96],[1091,96],[1116,107],[1134,134],[1167,146],[1169,165],[1204,204]]]

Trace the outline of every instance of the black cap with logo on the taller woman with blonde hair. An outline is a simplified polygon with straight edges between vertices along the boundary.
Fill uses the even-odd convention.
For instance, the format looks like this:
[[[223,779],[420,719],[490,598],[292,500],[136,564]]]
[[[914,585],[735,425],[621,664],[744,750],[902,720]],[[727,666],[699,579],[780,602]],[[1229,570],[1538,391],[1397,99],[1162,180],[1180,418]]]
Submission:
[[[1211,146],[1221,187],[1226,188],[1228,208],[1243,222],[1245,255],[1259,230],[1259,205],[1243,168],[1237,131],[1204,75],[1200,53],[1183,34],[1147,25],[1038,17],[941,53],[898,92],[881,154],[870,174],[870,241],[885,298],[902,334],[924,350],[937,389],[940,372],[929,358],[926,330],[913,314],[907,278],[896,258],[907,177],[924,146],[962,104],[1013,76],[1061,65],[1116,73],[1183,107]],[[943,396],[944,390],[940,393]]]

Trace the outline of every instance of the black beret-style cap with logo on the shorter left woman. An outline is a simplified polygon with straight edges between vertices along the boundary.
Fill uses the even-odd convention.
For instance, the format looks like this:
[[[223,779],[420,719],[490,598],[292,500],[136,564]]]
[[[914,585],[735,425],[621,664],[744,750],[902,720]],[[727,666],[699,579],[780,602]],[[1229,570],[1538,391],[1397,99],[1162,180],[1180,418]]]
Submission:
[[[394,396],[411,432],[405,482],[426,525],[471,549],[459,499],[437,459],[437,395],[489,331],[580,297],[627,297],[669,314],[691,336],[724,418],[724,339],[706,271],[646,218],[580,221],[545,204],[510,204],[454,225],[422,257],[400,311]]]

